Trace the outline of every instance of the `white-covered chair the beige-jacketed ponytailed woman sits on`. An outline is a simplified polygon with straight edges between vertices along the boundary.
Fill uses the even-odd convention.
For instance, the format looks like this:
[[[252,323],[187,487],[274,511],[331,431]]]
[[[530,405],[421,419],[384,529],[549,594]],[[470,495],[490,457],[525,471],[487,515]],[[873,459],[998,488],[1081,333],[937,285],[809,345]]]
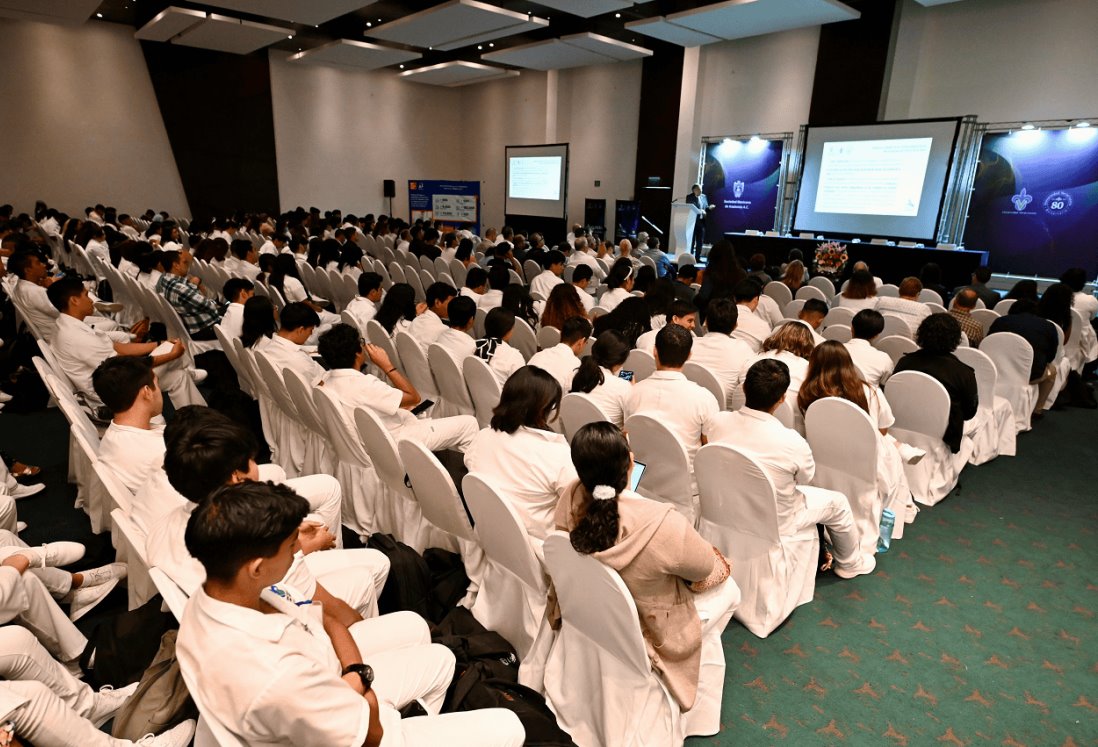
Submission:
[[[652,669],[637,606],[612,568],[568,535],[545,542],[561,628],[546,665],[546,700],[580,747],[682,745],[686,724]]]

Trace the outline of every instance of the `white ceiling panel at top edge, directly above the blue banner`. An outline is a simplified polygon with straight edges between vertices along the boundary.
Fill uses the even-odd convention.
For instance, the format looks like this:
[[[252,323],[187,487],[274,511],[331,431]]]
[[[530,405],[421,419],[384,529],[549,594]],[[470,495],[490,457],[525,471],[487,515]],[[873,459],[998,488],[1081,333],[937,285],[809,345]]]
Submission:
[[[397,44],[456,49],[548,25],[549,22],[545,19],[504,10],[479,0],[450,0],[374,26],[366,33]]]

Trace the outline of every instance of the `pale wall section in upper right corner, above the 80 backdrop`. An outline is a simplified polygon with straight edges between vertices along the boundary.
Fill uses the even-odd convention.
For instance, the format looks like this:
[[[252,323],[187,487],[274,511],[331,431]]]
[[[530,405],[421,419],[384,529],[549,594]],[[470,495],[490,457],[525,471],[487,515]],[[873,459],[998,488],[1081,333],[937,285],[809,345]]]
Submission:
[[[1094,116],[1096,40],[1095,0],[905,0],[886,119]]]

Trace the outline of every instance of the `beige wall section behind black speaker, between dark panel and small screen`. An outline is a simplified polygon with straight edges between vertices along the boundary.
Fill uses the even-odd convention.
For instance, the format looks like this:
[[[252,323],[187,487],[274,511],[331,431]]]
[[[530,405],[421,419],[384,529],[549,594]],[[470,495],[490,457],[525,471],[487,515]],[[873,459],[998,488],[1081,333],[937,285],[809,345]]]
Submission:
[[[388,213],[382,180],[394,179],[393,213],[406,219],[410,179],[470,178],[460,165],[458,90],[285,57],[270,53],[283,211]]]

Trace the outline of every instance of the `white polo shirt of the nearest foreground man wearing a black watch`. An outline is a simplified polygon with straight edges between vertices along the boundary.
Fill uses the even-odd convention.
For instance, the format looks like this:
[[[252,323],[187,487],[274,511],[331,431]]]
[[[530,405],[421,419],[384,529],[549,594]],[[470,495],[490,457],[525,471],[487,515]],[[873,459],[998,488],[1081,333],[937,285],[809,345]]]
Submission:
[[[339,678],[320,606],[282,591],[289,600],[264,590],[270,614],[194,592],[176,645],[188,690],[215,735],[244,745],[361,745],[370,705]],[[399,714],[382,706],[379,716],[400,733]]]

